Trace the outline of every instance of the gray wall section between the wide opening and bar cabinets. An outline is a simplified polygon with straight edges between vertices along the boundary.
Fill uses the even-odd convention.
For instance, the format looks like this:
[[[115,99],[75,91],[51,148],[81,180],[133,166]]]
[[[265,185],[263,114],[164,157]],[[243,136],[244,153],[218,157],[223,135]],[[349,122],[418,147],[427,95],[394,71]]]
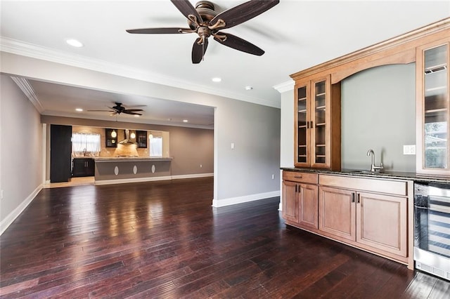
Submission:
[[[279,192],[280,109],[229,100],[216,109],[214,134],[218,178],[227,186],[219,199]]]

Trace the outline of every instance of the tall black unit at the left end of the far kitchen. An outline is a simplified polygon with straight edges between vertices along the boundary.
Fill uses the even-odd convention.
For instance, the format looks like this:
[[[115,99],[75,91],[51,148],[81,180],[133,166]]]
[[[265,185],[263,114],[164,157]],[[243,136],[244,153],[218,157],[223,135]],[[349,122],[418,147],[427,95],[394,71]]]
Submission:
[[[50,126],[50,182],[70,180],[72,126]]]

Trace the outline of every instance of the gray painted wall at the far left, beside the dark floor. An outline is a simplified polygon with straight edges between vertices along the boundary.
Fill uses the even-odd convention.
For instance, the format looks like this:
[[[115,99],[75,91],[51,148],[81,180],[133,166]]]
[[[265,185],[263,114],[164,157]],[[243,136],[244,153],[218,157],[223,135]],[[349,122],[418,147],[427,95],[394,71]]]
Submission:
[[[39,112],[13,80],[0,74],[0,200],[2,225],[15,208],[40,190],[42,126]],[[4,227],[2,227],[3,229]]]

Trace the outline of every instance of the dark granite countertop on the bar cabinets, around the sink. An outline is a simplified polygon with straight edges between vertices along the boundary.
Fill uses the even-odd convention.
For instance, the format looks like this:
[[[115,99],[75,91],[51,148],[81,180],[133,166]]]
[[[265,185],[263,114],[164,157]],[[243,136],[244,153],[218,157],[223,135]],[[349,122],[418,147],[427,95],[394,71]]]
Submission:
[[[372,173],[371,171],[361,169],[342,169],[341,171],[330,171],[319,168],[316,169],[316,168],[290,168],[290,167],[281,167],[281,169],[283,171],[348,175],[366,178],[390,178],[394,180],[413,180],[416,182],[438,182],[450,184],[450,175],[428,175],[423,173],[406,173],[398,171],[382,171],[382,172],[376,171]]]

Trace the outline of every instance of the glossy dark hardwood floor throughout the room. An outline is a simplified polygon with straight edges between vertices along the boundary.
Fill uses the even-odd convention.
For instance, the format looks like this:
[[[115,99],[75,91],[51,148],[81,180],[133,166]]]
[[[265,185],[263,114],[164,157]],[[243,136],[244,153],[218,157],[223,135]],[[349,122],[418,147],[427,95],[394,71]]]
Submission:
[[[0,237],[1,298],[449,298],[450,283],[286,227],[212,178],[44,189]]]

